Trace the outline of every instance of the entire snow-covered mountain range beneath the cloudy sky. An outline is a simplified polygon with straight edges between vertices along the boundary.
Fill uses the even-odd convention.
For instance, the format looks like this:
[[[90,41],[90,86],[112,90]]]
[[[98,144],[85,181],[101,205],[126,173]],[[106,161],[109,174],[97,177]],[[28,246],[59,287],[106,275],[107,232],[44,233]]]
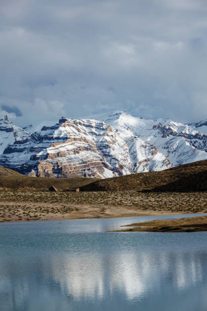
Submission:
[[[207,121],[184,125],[123,111],[102,120],[62,117],[34,133],[6,118],[0,139],[0,165],[29,176],[106,178],[207,159]]]

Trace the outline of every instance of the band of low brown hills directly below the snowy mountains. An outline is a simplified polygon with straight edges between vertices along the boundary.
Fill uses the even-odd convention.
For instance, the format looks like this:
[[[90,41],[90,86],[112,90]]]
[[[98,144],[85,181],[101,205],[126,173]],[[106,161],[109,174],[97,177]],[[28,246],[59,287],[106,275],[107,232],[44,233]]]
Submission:
[[[96,178],[43,178],[28,177],[0,167],[0,187],[8,189],[48,189],[54,185],[59,191],[155,191],[192,192],[207,190],[207,160],[180,165],[159,172],[147,172],[120,177]]]

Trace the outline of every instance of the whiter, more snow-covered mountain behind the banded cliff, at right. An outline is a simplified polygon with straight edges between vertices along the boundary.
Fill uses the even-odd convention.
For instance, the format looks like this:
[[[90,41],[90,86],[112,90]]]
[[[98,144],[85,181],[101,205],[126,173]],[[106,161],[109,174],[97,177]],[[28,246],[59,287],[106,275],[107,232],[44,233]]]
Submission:
[[[149,120],[126,112],[105,121],[125,137],[134,172],[159,171],[207,159],[206,121],[200,122],[199,128],[199,123],[189,126],[170,119]]]

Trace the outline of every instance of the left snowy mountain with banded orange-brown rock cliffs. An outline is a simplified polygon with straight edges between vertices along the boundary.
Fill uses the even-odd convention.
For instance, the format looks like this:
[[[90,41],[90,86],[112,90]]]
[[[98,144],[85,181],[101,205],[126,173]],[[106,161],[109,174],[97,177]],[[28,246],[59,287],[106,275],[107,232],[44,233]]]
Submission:
[[[0,163],[39,177],[104,178],[133,173],[124,137],[97,120],[61,118],[21,143],[10,143]]]

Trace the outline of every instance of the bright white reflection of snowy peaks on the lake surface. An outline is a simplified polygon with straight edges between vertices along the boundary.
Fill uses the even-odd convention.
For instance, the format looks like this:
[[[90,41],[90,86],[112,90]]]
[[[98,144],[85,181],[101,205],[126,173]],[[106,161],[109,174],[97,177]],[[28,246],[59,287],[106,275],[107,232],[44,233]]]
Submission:
[[[62,290],[78,299],[103,298],[114,292],[141,299],[171,284],[180,291],[202,281],[199,256],[185,253],[70,254],[53,260],[52,269]]]

